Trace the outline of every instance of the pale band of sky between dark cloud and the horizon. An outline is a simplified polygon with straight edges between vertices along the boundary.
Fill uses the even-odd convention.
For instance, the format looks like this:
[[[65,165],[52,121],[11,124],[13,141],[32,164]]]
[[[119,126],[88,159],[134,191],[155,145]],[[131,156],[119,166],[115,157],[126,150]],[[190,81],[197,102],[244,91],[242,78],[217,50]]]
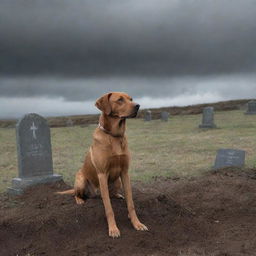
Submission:
[[[185,106],[221,100],[253,98],[256,76],[225,75],[169,79],[9,79],[0,96],[0,118],[36,112],[44,116],[98,113],[95,100],[104,92],[124,90],[142,108]],[[0,80],[0,84],[6,81]],[[26,84],[36,85],[27,87]],[[48,84],[44,87],[43,84]],[[9,84],[10,85],[10,84]],[[93,86],[97,85],[97,86]],[[16,93],[15,93],[16,91]]]

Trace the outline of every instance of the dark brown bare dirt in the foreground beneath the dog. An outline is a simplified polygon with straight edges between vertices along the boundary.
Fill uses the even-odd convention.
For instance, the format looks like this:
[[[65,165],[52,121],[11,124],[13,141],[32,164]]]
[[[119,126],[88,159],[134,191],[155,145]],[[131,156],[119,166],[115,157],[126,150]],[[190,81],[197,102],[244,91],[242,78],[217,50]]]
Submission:
[[[101,199],[76,205],[42,185],[0,198],[0,255],[256,255],[256,170],[225,169],[190,179],[133,184],[135,231],[123,200],[112,199],[121,238],[107,235]]]

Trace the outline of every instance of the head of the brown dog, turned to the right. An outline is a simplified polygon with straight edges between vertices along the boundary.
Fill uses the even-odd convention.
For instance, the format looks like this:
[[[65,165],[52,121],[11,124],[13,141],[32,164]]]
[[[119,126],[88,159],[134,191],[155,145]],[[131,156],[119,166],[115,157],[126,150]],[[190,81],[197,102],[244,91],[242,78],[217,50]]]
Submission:
[[[97,99],[95,106],[106,115],[119,118],[136,117],[140,105],[123,92],[110,92]]]

